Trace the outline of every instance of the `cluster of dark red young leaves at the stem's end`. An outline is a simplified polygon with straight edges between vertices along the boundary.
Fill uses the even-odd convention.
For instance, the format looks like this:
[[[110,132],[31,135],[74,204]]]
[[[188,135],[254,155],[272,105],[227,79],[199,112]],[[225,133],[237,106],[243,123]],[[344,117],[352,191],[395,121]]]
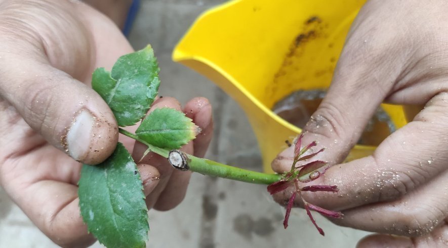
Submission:
[[[294,146],[294,161],[293,161],[293,165],[291,167],[291,171],[284,173],[280,181],[270,184],[267,187],[267,190],[270,194],[275,194],[275,193],[278,193],[278,192],[281,192],[281,191],[287,189],[289,186],[294,185],[296,190],[292,193],[292,195],[288,201],[288,205],[286,207],[286,213],[284,215],[284,221],[283,221],[284,228],[286,229],[288,227],[288,220],[289,220],[289,217],[291,214],[291,209],[293,208],[294,200],[296,199],[296,195],[299,194],[300,199],[302,200],[302,202],[304,204],[306,213],[308,214],[311,222],[317,228],[319,233],[321,235],[324,235],[322,228],[317,226],[316,221],[314,220],[313,216],[311,215],[311,210],[316,211],[322,215],[332,217],[332,218],[341,218],[342,213],[323,209],[321,207],[318,207],[318,206],[315,206],[315,205],[312,205],[312,204],[306,202],[302,197],[302,191],[337,192],[338,187],[336,185],[332,185],[332,186],[330,186],[330,185],[309,185],[309,186],[299,187],[299,182],[306,183],[306,182],[314,181],[317,178],[319,178],[323,173],[325,173],[325,171],[327,171],[328,168],[330,168],[330,166],[328,165],[327,162],[320,161],[320,160],[316,160],[316,161],[312,161],[312,162],[309,162],[304,165],[296,166],[297,162],[313,158],[318,153],[321,153],[324,150],[324,148],[322,148],[316,153],[302,156],[308,150],[310,150],[311,147],[317,145],[317,143],[315,141],[313,141],[301,149],[302,138],[303,138],[303,134],[300,134],[300,136],[296,140],[296,144]]]

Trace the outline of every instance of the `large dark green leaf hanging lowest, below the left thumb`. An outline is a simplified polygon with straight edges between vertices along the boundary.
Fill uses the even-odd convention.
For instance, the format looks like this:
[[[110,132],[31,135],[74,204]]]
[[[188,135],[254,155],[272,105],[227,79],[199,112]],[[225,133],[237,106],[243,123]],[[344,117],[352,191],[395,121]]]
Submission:
[[[145,247],[148,215],[137,166],[118,143],[103,163],[84,165],[79,180],[79,207],[84,222],[107,247]]]

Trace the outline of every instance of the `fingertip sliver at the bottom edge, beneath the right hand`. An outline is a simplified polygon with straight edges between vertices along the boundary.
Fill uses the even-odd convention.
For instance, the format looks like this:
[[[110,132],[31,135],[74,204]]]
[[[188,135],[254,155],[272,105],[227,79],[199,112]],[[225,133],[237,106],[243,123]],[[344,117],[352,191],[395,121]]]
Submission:
[[[409,237],[401,237],[386,234],[373,234],[359,240],[356,248],[376,248],[376,247],[414,247]]]

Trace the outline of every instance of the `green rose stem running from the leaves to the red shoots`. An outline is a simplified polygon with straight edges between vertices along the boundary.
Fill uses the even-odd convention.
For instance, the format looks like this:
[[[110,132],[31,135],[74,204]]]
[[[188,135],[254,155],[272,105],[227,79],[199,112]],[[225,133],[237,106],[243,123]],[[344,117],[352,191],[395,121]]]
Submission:
[[[154,152],[164,158],[168,158],[168,154],[170,153],[169,150],[151,145],[148,142],[140,139],[136,134],[128,132],[125,129],[119,128],[119,132],[147,145],[149,150],[151,150],[151,152]],[[228,178],[241,182],[258,183],[258,184],[271,184],[281,179],[280,175],[278,174],[266,174],[256,171],[245,170],[238,167],[220,164],[212,160],[197,158],[188,154],[187,157],[189,159],[188,161],[188,166],[190,167],[189,170],[203,175]]]

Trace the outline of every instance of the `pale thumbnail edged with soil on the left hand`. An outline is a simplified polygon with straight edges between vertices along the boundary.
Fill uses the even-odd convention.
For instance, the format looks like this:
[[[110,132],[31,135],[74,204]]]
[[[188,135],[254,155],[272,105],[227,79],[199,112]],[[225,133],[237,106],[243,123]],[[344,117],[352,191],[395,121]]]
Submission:
[[[94,121],[90,111],[85,109],[73,119],[68,129],[66,152],[76,161],[83,160],[89,153]]]

